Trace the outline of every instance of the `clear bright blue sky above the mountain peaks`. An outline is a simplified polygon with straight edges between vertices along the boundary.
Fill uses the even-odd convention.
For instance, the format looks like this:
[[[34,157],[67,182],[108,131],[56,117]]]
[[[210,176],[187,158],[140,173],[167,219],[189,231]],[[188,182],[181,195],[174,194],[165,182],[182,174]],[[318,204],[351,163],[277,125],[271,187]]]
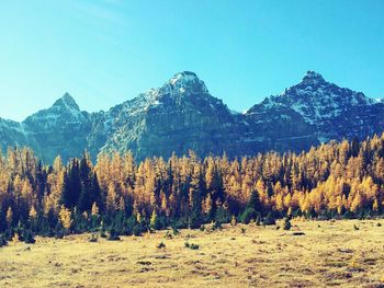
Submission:
[[[0,117],[108,110],[194,71],[237,111],[307,70],[384,97],[382,0],[1,0]]]

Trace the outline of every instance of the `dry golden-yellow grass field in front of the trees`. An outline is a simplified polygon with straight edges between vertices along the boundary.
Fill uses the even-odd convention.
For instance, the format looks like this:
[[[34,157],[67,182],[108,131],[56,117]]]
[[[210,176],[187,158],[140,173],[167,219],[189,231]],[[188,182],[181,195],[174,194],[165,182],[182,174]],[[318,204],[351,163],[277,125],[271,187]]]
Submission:
[[[291,231],[238,224],[97,243],[38,238],[0,249],[0,287],[384,287],[380,222],[293,221]]]

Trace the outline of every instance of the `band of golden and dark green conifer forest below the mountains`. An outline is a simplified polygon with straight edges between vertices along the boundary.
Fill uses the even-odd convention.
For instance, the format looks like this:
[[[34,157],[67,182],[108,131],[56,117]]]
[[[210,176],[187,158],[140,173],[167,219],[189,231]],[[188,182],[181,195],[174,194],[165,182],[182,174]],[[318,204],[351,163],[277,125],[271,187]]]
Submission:
[[[384,206],[384,134],[302,153],[146,159],[100,153],[52,165],[29,148],[0,155],[0,246],[12,238],[100,232],[111,239],[168,227],[284,217],[369,218]]]

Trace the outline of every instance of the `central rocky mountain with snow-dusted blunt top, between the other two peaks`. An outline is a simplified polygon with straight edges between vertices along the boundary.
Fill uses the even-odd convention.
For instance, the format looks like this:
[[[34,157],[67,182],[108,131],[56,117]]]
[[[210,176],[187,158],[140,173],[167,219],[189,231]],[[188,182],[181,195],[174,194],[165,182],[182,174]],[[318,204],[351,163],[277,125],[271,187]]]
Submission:
[[[188,149],[222,153],[236,127],[227,106],[192,72],[178,73],[160,89],[124,103],[117,119],[103,149],[128,148],[139,158]]]

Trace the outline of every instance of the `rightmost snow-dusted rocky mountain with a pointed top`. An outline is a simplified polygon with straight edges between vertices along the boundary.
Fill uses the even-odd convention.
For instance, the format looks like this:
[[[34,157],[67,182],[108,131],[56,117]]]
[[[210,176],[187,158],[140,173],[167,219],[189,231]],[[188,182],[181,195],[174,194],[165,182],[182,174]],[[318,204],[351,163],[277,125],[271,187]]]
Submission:
[[[381,101],[366,97],[361,92],[340,88],[308,71],[303,80],[281,95],[264,99],[251,107],[247,114],[261,118],[274,115],[278,122],[286,122],[298,133],[315,136],[319,142],[342,138],[363,139],[374,133],[383,133],[384,106]],[[292,135],[293,137],[294,135]]]

